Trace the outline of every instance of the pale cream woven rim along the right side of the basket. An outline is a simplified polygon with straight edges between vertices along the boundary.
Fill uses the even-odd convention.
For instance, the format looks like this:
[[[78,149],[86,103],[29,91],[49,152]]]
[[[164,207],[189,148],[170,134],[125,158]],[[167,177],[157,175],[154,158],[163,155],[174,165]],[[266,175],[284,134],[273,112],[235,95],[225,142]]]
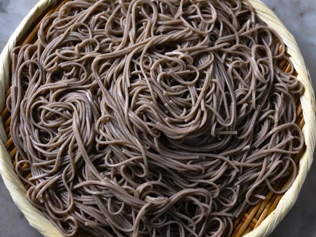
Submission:
[[[305,125],[302,131],[304,134],[306,150],[299,161],[300,169],[297,177],[295,178],[293,185],[282,196],[275,210],[273,210],[273,212],[267,216],[257,228],[244,235],[244,237],[266,237],[276,228],[288,211],[293,207],[310,169],[316,141],[316,126],[314,125],[316,124],[316,106],[312,82],[294,36],[285,28],[284,24],[276,14],[269,9],[266,4],[262,3],[261,0],[248,1],[260,19],[275,30],[284,41],[286,51],[291,56],[289,59],[292,61],[294,68],[298,73],[298,80],[305,87],[303,95],[300,96],[300,101],[305,120]]]

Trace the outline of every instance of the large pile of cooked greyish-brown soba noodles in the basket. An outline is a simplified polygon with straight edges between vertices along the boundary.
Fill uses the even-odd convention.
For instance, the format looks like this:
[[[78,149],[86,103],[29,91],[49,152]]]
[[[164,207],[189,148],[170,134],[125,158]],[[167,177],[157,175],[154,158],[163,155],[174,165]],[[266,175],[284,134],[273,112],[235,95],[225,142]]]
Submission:
[[[302,86],[284,60],[247,1],[68,1],[12,52],[30,202],[65,236],[229,236],[297,173]]]

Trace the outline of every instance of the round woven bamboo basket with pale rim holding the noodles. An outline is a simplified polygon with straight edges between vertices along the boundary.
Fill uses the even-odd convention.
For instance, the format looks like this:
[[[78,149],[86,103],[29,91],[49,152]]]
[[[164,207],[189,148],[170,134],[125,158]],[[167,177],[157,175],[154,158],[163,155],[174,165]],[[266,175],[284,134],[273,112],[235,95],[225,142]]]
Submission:
[[[10,52],[16,45],[36,43],[37,31],[41,19],[45,15],[58,11],[67,0],[41,0],[22,20],[18,28],[10,37],[2,54],[0,55],[0,174],[4,180],[10,195],[29,221],[30,225],[37,229],[44,236],[62,237],[63,235],[44,217],[39,209],[32,206],[27,197],[29,185],[23,183],[15,173],[15,160],[13,159],[16,148],[10,136],[11,117],[8,109],[5,108],[6,98],[10,94]],[[304,85],[303,95],[297,98],[297,124],[302,128],[305,146],[295,156],[299,166],[297,177],[291,188],[283,194],[269,192],[265,200],[245,210],[241,216],[234,220],[234,230],[231,237],[262,237],[269,235],[277,224],[288,213],[294,205],[307,172],[313,159],[313,151],[316,142],[316,107],[311,80],[302,58],[301,52],[294,37],[289,33],[277,16],[260,0],[249,0],[258,16],[273,28],[283,39],[286,45],[286,52],[294,65],[294,73],[298,80]],[[281,48],[280,48],[281,50]],[[291,65],[284,60],[280,62],[280,68],[290,71]],[[31,177],[30,173],[24,173],[24,177]],[[287,185],[287,180],[281,180],[276,188]],[[91,237],[88,233],[81,231],[78,236]]]

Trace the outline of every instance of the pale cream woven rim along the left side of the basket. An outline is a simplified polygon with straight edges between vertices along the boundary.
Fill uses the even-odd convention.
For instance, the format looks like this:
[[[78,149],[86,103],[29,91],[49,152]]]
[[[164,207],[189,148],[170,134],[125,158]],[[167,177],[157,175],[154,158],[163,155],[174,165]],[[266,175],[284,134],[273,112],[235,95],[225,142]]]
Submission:
[[[0,55],[0,111],[6,104],[5,93],[9,88],[10,73],[10,53],[15,47],[16,42],[30,29],[31,24],[52,4],[57,0],[40,0],[32,10],[23,18],[13,34],[10,36],[6,46]],[[63,237],[58,229],[42,214],[42,212],[34,207],[27,199],[24,186],[15,173],[11,163],[10,155],[4,146],[7,141],[7,135],[4,130],[3,121],[0,125],[0,174],[7,187],[11,198],[17,207],[21,210],[29,224],[39,231],[45,237]]]

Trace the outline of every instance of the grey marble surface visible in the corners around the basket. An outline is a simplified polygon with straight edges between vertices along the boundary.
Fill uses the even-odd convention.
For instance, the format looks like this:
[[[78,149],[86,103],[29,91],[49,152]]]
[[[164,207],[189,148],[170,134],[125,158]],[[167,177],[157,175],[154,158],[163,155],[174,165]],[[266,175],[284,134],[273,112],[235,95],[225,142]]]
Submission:
[[[310,75],[316,85],[316,0],[263,0],[297,39]],[[0,0],[0,50],[37,0]],[[314,157],[316,157],[314,155]],[[313,163],[300,196],[273,237],[316,237],[316,162]],[[40,237],[23,218],[0,178],[0,236]]]

